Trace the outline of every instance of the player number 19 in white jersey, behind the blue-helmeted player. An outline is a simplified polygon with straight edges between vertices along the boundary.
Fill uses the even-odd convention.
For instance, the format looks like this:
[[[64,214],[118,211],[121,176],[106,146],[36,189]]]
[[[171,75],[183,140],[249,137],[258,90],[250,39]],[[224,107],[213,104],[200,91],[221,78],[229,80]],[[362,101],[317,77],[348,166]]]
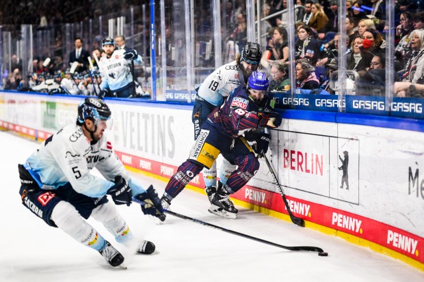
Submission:
[[[233,89],[240,85],[246,85],[250,74],[258,69],[261,57],[261,46],[257,43],[248,42],[241,51],[241,54],[236,55],[235,61],[217,68],[196,89],[196,100],[194,101],[191,117],[194,124],[195,140],[198,138],[200,127],[213,109],[221,106],[224,99],[230,95]],[[234,170],[235,166],[228,163],[228,160],[224,158],[220,169],[220,181],[217,184],[216,163],[213,163],[210,169],[204,169],[204,190],[209,197],[209,201],[213,199],[216,191],[219,191],[222,185],[226,184],[228,176]],[[228,200],[228,203],[233,206],[233,210],[237,211],[230,200]]]

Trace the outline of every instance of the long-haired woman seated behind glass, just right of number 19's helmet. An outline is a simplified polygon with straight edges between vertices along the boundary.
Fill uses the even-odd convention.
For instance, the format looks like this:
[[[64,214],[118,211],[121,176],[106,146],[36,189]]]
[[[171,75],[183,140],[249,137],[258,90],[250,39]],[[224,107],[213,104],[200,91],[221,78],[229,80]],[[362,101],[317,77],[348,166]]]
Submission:
[[[264,52],[264,55],[269,63],[280,59],[283,61],[287,61],[287,59],[289,59],[287,31],[284,27],[274,27],[272,38],[268,42],[267,51],[268,52]]]

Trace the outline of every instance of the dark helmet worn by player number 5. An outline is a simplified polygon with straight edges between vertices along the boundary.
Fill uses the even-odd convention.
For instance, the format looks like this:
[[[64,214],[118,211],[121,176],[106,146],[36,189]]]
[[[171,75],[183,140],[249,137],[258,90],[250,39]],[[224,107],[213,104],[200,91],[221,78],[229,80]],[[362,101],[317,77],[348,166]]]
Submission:
[[[91,119],[94,124],[99,120],[107,120],[111,116],[111,111],[107,104],[98,98],[85,98],[78,105],[77,124],[81,125],[85,119]]]

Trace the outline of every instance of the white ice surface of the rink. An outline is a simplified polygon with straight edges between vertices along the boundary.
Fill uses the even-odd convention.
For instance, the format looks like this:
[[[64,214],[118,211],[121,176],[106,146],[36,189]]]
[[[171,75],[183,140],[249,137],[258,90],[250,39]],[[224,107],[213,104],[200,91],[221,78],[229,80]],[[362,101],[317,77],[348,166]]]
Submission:
[[[188,189],[172,202],[175,212],[284,246],[319,246],[329,256],[287,251],[170,215],[155,225],[133,204],[118,209],[133,234],[154,242],[157,252],[136,255],[89,220],[125,257],[127,270],[112,269],[22,205],[17,165],[39,144],[8,132],[0,132],[0,142],[0,281],[424,281],[424,272],[396,259],[252,210],[239,208],[235,220],[218,218],[207,212],[207,197]],[[165,182],[134,177],[163,193]]]

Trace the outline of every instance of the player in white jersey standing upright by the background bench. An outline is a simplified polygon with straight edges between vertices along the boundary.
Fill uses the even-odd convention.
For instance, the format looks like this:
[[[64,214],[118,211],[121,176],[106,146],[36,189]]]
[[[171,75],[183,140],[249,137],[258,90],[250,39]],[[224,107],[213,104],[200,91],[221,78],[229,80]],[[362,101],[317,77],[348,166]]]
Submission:
[[[105,96],[105,91],[116,93],[118,98],[128,98],[135,96],[135,92],[142,92],[140,85],[133,81],[131,74],[131,61],[134,64],[142,64],[142,57],[135,50],[118,49],[115,50],[114,40],[110,37],[103,38],[103,50],[106,55],[99,61],[99,70],[102,74],[101,89]]]

